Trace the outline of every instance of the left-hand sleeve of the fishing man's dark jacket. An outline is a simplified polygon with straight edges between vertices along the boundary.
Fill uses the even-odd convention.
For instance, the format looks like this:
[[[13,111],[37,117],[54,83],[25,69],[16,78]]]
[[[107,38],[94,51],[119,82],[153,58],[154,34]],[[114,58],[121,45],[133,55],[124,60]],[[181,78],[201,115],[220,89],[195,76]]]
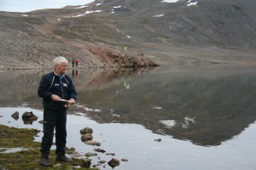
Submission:
[[[38,87],[38,96],[44,99],[51,99],[52,93],[48,91],[49,86],[50,84],[47,82],[46,76],[44,75]]]

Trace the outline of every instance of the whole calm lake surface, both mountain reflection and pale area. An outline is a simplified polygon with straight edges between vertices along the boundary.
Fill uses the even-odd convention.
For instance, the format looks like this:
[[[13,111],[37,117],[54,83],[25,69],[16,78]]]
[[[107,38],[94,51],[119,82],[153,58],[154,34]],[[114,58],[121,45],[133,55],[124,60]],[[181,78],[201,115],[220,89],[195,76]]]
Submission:
[[[49,71],[0,73],[0,123],[42,130],[38,82]],[[69,110],[67,146],[80,154],[91,127],[101,160],[128,159],[115,169],[243,169],[256,167],[256,69],[238,65],[172,65],[152,70],[67,71],[79,92]],[[33,111],[37,122],[11,117]],[[42,133],[36,138],[40,141]],[[160,142],[155,139],[161,139]],[[54,148],[54,147],[53,147]],[[99,159],[91,157],[96,164]],[[112,169],[100,166],[101,169]]]

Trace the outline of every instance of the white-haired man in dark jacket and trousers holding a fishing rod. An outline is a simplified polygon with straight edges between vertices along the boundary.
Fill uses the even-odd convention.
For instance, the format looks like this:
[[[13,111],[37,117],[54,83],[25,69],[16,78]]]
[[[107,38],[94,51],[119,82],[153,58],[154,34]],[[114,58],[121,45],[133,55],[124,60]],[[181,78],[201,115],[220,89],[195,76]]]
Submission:
[[[54,70],[41,79],[38,87],[38,96],[43,98],[44,106],[44,136],[41,143],[41,161],[39,164],[44,167],[51,167],[49,161],[49,150],[53,144],[55,129],[56,161],[72,161],[65,156],[67,139],[67,102],[75,104],[77,92],[70,77],[65,75],[67,59],[56,57],[53,60]]]

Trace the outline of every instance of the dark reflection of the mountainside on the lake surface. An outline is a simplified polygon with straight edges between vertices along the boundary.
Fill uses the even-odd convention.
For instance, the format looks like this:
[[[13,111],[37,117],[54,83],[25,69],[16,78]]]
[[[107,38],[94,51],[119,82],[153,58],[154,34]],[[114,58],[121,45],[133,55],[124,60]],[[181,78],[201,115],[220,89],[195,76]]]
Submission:
[[[37,88],[47,72],[0,73],[0,105],[42,109]],[[69,70],[79,93],[78,105],[98,110],[73,106],[70,111],[86,112],[99,123],[137,123],[193,144],[219,145],[255,122],[255,74],[248,66],[232,65]]]

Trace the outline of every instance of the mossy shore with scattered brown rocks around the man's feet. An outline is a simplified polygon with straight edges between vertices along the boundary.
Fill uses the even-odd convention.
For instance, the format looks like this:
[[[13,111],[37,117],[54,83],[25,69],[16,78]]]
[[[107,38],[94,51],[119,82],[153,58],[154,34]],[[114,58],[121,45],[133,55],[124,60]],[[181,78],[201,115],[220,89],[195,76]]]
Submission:
[[[17,121],[20,118],[20,113],[15,111],[12,114],[12,117]],[[26,111],[22,114],[22,120],[25,124],[32,124],[33,122],[38,121],[38,116],[35,116],[32,111]],[[42,122],[42,121],[41,121]],[[0,169],[16,169],[24,168],[26,164],[26,169],[41,169],[38,165],[40,158],[40,143],[35,142],[34,137],[38,135],[40,131],[36,129],[29,128],[15,128],[15,127],[6,127],[0,125]],[[85,153],[84,155],[79,154],[79,150],[75,150],[74,147],[67,148],[67,155],[73,159],[73,162],[58,162],[55,161],[55,150],[50,150],[49,159],[54,163],[56,169],[98,169],[99,166],[102,167],[117,167],[120,166],[121,162],[128,161],[125,158],[118,159],[113,152],[106,152],[99,148],[100,143],[93,141],[92,133],[93,129],[90,127],[84,127],[80,130],[81,140],[84,144],[90,144],[96,146],[94,149],[95,152]],[[18,141],[18,142],[17,142]],[[18,151],[8,151],[10,149],[17,148]],[[106,156],[111,156],[109,160],[98,160],[96,163],[93,163],[90,159],[91,157],[98,156],[98,153],[105,154]]]

